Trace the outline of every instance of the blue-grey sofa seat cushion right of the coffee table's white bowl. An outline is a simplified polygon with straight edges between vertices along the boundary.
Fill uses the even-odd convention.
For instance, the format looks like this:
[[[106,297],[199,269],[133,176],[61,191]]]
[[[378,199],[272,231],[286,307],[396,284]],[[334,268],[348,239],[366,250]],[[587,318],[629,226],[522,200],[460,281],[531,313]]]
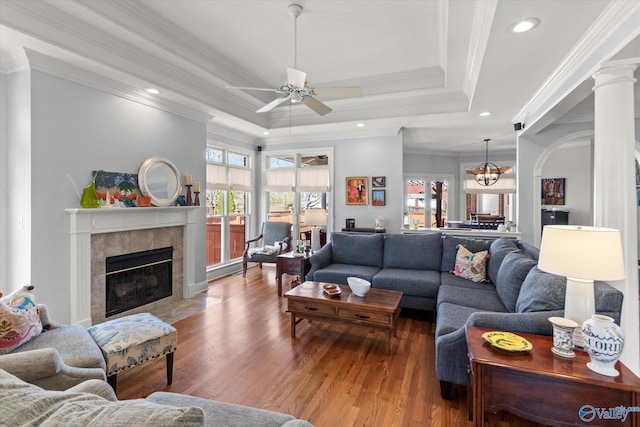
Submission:
[[[385,268],[373,276],[371,286],[402,291],[405,295],[436,298],[440,287],[440,272]]]

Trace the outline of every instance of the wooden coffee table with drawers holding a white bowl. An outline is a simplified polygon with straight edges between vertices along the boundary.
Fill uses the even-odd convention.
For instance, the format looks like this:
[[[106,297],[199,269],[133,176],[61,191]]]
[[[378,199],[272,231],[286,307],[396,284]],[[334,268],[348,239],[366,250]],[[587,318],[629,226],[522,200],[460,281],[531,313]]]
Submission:
[[[402,292],[370,289],[366,296],[351,293],[348,286],[338,285],[342,293],[331,297],[324,293],[323,282],[304,282],[284,294],[291,313],[291,336],[302,319],[366,326],[387,332],[387,351],[391,353],[391,335],[397,335]]]

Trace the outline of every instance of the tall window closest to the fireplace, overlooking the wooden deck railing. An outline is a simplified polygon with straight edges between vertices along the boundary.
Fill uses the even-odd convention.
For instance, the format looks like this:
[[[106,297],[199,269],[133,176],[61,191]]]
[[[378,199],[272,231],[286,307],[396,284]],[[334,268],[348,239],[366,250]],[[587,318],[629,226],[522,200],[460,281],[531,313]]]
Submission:
[[[207,267],[242,258],[249,223],[250,157],[207,147]]]

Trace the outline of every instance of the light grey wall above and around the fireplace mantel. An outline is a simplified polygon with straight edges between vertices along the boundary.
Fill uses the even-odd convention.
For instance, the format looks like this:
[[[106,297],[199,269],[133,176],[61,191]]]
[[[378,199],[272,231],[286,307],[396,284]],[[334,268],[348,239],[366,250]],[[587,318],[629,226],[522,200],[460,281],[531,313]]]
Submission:
[[[17,205],[31,203],[30,257],[20,261],[30,263],[38,301],[49,305],[57,321],[68,322],[70,240],[64,210],[80,207],[71,180],[81,191],[93,170],[137,173],[145,159],[159,156],[205,182],[206,125],[42,72],[31,74],[30,163],[10,171],[10,183],[31,179],[30,190],[16,199]],[[191,262],[200,283],[206,280],[204,209],[197,215]],[[13,264],[9,268],[15,270]]]

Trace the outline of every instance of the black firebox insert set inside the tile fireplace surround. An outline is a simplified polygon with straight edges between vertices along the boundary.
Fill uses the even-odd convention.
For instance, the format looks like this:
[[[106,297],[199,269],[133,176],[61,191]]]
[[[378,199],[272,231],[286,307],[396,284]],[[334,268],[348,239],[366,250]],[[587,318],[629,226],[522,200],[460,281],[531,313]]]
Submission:
[[[107,257],[105,317],[172,294],[173,247]]]

